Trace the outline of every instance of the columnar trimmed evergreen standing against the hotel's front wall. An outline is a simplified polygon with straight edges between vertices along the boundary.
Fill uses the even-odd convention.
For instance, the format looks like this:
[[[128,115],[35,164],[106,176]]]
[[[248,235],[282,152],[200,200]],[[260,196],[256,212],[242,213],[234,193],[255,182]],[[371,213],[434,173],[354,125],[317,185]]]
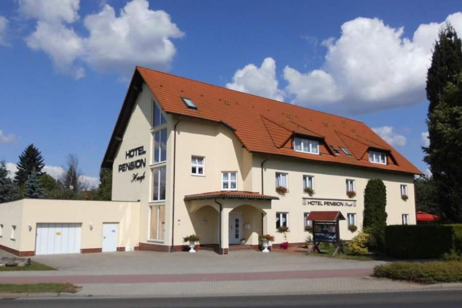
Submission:
[[[385,228],[387,227],[387,188],[381,179],[370,179],[364,189],[364,214],[362,227],[377,241],[377,248],[383,249],[385,244]]]

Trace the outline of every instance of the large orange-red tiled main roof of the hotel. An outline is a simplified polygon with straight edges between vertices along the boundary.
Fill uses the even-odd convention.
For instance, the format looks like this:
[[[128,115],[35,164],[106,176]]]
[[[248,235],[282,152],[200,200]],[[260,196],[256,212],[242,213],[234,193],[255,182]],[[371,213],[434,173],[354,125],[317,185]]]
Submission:
[[[135,80],[139,79],[138,74],[149,86],[166,113],[226,124],[234,130],[235,135],[250,152],[422,174],[411,162],[362,122],[161,71],[137,67],[126,102],[129,99],[133,100],[132,92],[137,95],[136,91],[139,90],[137,82],[140,81],[135,82]],[[194,101],[197,110],[187,108],[181,97]],[[125,109],[124,106],[122,112],[129,110],[129,104]],[[119,116],[112,139],[118,139],[117,137],[123,134],[124,128],[120,126],[124,126],[126,121],[128,117]],[[120,125],[119,122],[121,122]],[[321,140],[320,155],[294,151],[291,140],[297,134],[319,138]],[[111,157],[117,149],[117,141],[112,141],[112,139],[113,144],[109,144],[103,166],[111,166]],[[338,147],[348,148],[353,155],[346,155],[342,151],[340,155],[335,155],[330,149],[332,146],[336,149]],[[388,159],[388,165],[370,162],[369,148],[389,152],[391,159]]]

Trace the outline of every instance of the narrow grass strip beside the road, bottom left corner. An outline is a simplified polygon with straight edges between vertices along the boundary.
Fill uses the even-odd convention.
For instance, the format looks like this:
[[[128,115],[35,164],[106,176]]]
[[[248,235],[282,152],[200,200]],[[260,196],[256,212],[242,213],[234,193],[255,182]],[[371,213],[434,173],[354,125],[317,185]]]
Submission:
[[[0,284],[0,293],[76,293],[79,289],[70,283]]]

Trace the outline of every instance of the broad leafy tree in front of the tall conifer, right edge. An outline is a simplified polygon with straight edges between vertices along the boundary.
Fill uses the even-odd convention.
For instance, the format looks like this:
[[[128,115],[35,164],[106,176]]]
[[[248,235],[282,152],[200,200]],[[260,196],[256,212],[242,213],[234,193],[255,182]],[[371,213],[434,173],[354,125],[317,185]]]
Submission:
[[[445,221],[462,223],[462,74],[449,82],[427,121],[433,139],[424,149]]]

